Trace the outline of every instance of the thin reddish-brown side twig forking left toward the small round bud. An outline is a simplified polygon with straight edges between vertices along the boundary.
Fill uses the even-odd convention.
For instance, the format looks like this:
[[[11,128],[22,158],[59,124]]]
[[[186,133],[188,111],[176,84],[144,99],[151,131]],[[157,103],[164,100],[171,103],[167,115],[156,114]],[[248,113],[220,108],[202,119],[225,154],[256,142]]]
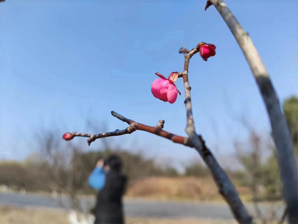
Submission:
[[[79,133],[79,132],[73,132],[72,135],[73,137],[88,137],[88,144],[90,145],[91,142],[95,141],[98,138],[105,138],[105,137],[110,137],[110,136],[119,136],[119,135],[124,135],[124,134],[131,134],[132,132],[136,130],[143,130],[150,132],[152,134],[167,138],[175,143],[179,143],[185,146],[193,147],[193,145],[190,143],[188,138],[182,137],[179,135],[172,134],[170,132],[162,130],[164,120],[159,120],[159,122],[156,124],[155,127],[151,127],[142,123],[138,123],[134,120],[128,119],[124,117],[123,115],[116,113],[116,112],[111,112],[111,114],[115,117],[117,117],[119,120],[122,120],[123,122],[126,122],[129,124],[129,126],[126,129],[123,130],[118,130],[116,129],[115,131],[112,132],[106,132],[106,133],[100,133],[100,134],[86,134],[86,133]]]

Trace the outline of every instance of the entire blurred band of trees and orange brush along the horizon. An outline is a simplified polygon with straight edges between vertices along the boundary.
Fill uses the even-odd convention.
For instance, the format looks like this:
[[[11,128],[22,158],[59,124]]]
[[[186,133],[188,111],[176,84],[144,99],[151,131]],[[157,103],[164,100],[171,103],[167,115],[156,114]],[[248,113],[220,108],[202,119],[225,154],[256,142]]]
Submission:
[[[292,133],[294,148],[298,155],[298,98],[284,102]],[[179,173],[169,162],[156,164],[142,152],[111,148],[105,144],[94,151],[61,141],[55,130],[44,130],[38,136],[35,153],[24,161],[0,162],[0,185],[20,191],[56,192],[68,194],[75,199],[77,194],[94,194],[87,179],[100,157],[118,154],[123,159],[123,172],[129,177],[127,196],[163,197],[197,200],[220,198],[208,168],[200,162],[185,165]],[[249,129],[246,141],[235,140],[234,157],[242,168],[226,169],[240,195],[251,195],[253,201],[276,201],[282,199],[276,150],[271,136],[265,138]],[[231,155],[232,156],[232,155]],[[75,201],[75,200],[74,200]]]

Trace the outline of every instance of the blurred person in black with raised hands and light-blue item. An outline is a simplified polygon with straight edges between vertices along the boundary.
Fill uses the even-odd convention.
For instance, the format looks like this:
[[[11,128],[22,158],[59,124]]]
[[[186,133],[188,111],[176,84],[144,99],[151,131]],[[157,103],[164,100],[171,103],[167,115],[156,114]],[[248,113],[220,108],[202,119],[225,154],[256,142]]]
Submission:
[[[120,157],[111,155],[106,160],[99,159],[88,178],[89,186],[98,191],[93,209],[94,224],[125,224],[122,197],[127,177],[122,174],[121,169]]]

